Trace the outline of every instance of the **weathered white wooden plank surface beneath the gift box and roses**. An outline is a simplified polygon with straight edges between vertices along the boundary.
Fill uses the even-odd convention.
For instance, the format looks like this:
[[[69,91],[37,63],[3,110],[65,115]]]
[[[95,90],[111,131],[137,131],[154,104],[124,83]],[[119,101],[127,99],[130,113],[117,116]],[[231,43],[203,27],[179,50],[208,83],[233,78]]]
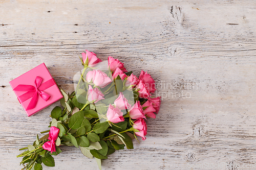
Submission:
[[[162,96],[147,139],[102,169],[256,168],[256,2],[232,0],[0,0],[0,169],[20,169],[19,148],[48,130],[56,103],[27,117],[9,81],[45,62],[71,92],[86,49],[138,76]],[[97,169],[75,147],[55,167]]]

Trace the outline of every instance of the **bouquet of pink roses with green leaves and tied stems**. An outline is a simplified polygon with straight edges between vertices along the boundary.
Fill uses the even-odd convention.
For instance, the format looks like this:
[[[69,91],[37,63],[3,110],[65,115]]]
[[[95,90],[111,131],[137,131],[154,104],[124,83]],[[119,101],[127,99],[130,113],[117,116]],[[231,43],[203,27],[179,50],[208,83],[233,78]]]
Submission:
[[[81,59],[81,58],[80,58]],[[96,54],[82,53],[83,70],[74,77],[75,91],[60,101],[51,111],[49,134],[20,149],[26,150],[20,164],[24,169],[42,169],[41,163],[54,166],[52,155],[61,152],[61,145],[80,148],[88,158],[95,157],[101,169],[101,159],[116,150],[133,149],[137,136],[145,140],[146,117],[156,118],[160,108],[160,97],[152,98],[155,81],[147,72],[141,71],[139,78],[128,72],[124,64],[113,57],[104,65]]]

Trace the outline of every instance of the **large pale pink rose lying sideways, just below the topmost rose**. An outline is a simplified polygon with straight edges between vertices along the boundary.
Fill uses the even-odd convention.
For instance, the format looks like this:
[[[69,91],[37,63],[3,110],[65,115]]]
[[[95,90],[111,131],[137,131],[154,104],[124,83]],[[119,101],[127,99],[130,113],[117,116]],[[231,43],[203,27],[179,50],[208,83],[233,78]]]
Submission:
[[[93,84],[100,88],[103,88],[112,82],[112,80],[108,77],[108,75],[105,74],[105,72],[95,69],[92,71],[88,71],[86,75],[86,81],[92,81]]]

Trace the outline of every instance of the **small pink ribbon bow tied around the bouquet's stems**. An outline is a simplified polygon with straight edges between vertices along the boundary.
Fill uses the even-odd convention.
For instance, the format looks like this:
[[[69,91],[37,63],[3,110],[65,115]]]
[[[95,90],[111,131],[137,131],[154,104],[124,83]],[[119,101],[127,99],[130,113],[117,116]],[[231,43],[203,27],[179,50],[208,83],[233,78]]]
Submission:
[[[45,142],[42,145],[42,148],[44,148],[44,150],[50,151],[51,153],[56,152],[55,140],[58,138],[58,134],[59,134],[59,129],[52,126],[50,128],[49,137],[48,137],[50,141]]]

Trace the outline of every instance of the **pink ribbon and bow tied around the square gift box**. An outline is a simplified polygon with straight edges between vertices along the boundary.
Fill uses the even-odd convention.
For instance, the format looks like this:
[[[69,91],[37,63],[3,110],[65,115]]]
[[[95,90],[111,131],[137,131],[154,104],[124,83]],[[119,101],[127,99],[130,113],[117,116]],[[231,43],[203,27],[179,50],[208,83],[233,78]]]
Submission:
[[[48,101],[48,99],[50,98],[50,95],[47,94],[46,92],[44,92],[44,90],[53,86],[55,84],[54,80],[50,79],[50,80],[46,81],[45,83],[42,83],[42,84],[41,83],[42,83],[42,78],[37,76],[35,78],[35,86],[19,84],[17,87],[15,87],[13,89],[15,91],[27,91],[26,93],[18,96],[19,102],[24,102],[24,101],[32,98],[26,110],[35,108],[37,101],[38,101],[38,94],[45,101]]]

